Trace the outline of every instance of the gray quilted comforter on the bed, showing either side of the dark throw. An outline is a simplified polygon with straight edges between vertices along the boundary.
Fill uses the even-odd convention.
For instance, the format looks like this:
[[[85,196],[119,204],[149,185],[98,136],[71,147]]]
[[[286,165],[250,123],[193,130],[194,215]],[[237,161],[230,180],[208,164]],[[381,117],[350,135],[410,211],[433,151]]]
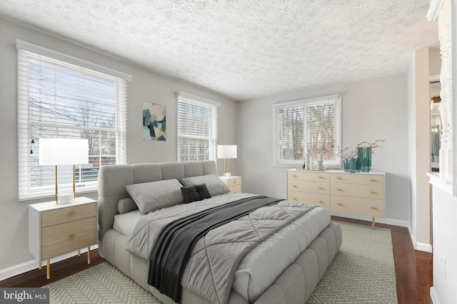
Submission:
[[[149,261],[156,239],[171,221],[249,195],[214,196],[145,214],[136,224],[126,249]],[[210,303],[227,303],[236,268],[243,256],[311,209],[313,206],[281,201],[209,231],[194,246],[181,284]],[[303,243],[308,241],[303,240]]]

